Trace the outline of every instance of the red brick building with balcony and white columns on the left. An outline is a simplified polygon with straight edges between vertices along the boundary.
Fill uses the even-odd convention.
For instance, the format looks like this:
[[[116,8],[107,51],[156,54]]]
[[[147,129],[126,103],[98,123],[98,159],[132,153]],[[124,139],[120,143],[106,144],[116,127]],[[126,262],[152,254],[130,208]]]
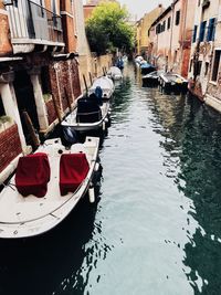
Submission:
[[[74,12],[73,1],[0,0],[1,182],[81,94]]]

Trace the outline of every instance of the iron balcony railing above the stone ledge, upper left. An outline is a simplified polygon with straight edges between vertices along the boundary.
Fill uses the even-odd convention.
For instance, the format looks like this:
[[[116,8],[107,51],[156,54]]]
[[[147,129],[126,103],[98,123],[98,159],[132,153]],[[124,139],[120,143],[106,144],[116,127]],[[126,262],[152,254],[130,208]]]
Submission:
[[[31,0],[7,0],[11,39],[63,43],[62,19]],[[32,43],[34,43],[32,41]]]

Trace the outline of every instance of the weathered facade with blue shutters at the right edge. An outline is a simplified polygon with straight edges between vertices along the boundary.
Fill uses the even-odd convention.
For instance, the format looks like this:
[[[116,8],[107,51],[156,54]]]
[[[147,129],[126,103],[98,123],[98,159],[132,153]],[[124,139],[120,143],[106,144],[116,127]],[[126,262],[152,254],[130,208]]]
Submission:
[[[201,0],[196,7],[189,91],[221,112],[221,3]]]

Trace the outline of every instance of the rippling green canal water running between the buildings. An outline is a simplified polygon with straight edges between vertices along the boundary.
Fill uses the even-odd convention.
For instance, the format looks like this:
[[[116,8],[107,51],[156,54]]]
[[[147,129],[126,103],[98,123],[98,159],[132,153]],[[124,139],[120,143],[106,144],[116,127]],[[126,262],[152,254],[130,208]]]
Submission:
[[[1,295],[221,294],[221,117],[124,70],[85,199],[38,239],[0,241]]]

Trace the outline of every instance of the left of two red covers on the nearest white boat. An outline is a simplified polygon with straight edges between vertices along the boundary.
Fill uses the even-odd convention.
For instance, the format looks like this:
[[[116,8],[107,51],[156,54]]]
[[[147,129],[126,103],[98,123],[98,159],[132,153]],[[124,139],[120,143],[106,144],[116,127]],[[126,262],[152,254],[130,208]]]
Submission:
[[[50,165],[46,154],[36,152],[19,159],[15,186],[22,196],[44,197],[49,181]]]

